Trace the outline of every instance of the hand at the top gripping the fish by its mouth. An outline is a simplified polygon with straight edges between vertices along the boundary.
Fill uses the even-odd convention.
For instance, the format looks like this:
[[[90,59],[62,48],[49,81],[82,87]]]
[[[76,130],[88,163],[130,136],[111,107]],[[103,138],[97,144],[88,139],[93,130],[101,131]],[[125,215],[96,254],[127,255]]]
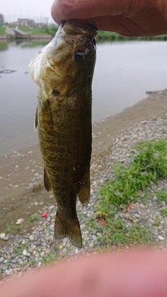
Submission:
[[[166,0],[54,0],[51,15],[58,24],[65,19],[84,19],[98,30],[124,36],[167,33]]]

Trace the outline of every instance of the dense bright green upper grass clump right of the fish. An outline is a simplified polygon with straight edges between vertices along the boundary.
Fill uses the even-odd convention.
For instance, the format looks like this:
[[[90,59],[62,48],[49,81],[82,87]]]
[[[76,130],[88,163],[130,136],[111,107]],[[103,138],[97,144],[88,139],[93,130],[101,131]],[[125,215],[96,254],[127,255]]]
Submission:
[[[100,195],[104,204],[128,204],[135,200],[138,191],[143,191],[150,184],[156,183],[159,178],[167,177],[167,141],[162,139],[154,143],[145,142],[137,145],[136,151],[131,152],[134,161],[129,166],[117,163],[113,172],[115,177],[104,184]]]

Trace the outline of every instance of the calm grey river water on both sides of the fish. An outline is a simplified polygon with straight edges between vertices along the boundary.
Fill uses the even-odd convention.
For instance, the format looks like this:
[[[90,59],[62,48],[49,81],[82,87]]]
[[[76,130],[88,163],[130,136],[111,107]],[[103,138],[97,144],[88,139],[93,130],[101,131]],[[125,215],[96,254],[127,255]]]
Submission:
[[[43,47],[8,43],[0,51],[0,156],[38,143],[33,130],[37,87],[29,61]],[[1,49],[1,44],[0,44]],[[144,98],[146,90],[167,88],[167,42],[110,42],[97,45],[93,78],[93,122],[119,113]]]

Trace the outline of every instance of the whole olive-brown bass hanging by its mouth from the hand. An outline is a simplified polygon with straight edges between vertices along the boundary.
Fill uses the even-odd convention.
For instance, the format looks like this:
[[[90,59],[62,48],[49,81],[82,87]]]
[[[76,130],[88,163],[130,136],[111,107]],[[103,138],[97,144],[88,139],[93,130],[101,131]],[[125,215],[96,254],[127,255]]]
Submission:
[[[29,63],[38,85],[35,129],[44,161],[44,185],[56,198],[56,239],[82,246],[77,198],[90,200],[92,81],[97,29],[61,22],[55,37]]]

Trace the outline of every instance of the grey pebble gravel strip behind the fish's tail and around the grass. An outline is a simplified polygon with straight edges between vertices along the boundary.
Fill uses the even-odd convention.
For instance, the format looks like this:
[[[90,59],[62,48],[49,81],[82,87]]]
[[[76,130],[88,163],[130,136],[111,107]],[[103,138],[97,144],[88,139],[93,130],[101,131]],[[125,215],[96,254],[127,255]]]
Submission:
[[[52,205],[50,203],[51,205],[46,206],[41,202],[35,201],[35,205],[40,205],[40,215],[47,213],[47,218],[44,219],[39,216],[39,220],[34,222],[33,228],[29,231],[28,235],[22,230],[19,236],[14,240],[10,239],[10,236],[4,232],[0,234],[0,239],[6,240],[6,246],[1,248],[0,273],[2,271],[3,275],[12,275],[15,270],[17,273],[20,273],[19,275],[22,275],[24,268],[28,268],[32,265],[40,267],[43,265],[42,262],[45,257],[49,259],[50,255],[55,255],[60,259],[65,255],[79,257],[79,255],[84,252],[87,256],[90,256],[91,251],[99,247],[97,239],[102,235],[102,229],[98,229],[97,227],[93,230],[88,230],[88,221],[91,218],[93,218],[93,220],[96,219],[96,204],[101,199],[98,194],[100,186],[106,180],[113,178],[111,169],[114,163],[122,161],[122,163],[128,164],[132,161],[129,152],[135,150],[135,145],[138,142],[151,141],[155,138],[159,138],[159,136],[166,138],[166,134],[161,133],[161,131],[167,131],[167,127],[163,125],[164,116],[167,119],[167,113],[162,113],[157,120],[150,118],[150,120],[136,124],[125,131],[122,130],[115,140],[111,140],[108,137],[106,140],[108,143],[106,142],[105,145],[98,143],[98,146],[103,146],[105,159],[103,159],[101,163],[100,158],[96,158],[94,154],[92,155],[91,170],[93,177],[91,180],[90,203],[87,207],[82,207],[79,203],[77,205],[77,214],[79,216],[84,243],[81,250],[72,246],[68,239],[56,242],[54,238],[56,204]],[[95,137],[97,137],[97,135],[95,135]],[[112,150],[111,143],[113,143]],[[29,154],[32,153],[33,152],[29,151]],[[30,160],[27,164],[27,170],[31,168],[31,164],[34,166],[35,163],[33,163],[33,160]],[[40,192],[42,191],[42,187],[40,184],[35,184],[39,177],[38,169],[35,168],[33,172],[35,173],[31,183],[25,186],[27,189],[32,188],[33,190],[35,189],[36,192]],[[40,178],[42,181],[42,176]],[[14,185],[11,184],[11,187],[13,186]],[[136,222],[143,228],[150,228],[152,239],[154,239],[155,242],[159,241],[159,246],[163,244],[163,248],[166,250],[167,218],[161,214],[161,209],[166,209],[166,202],[160,202],[157,198],[157,187],[166,189],[166,180],[161,180],[159,185],[152,184],[150,186],[148,198],[145,198],[144,204],[142,203],[143,200],[133,203],[133,207],[130,207],[128,212],[125,212],[124,209],[120,209],[114,218],[121,218],[125,226],[133,226],[134,222]],[[40,195],[42,195],[42,193],[40,193]],[[38,194],[36,197],[38,197]],[[49,195],[49,198],[54,198],[54,196]],[[114,245],[111,248],[116,249],[117,247]]]

